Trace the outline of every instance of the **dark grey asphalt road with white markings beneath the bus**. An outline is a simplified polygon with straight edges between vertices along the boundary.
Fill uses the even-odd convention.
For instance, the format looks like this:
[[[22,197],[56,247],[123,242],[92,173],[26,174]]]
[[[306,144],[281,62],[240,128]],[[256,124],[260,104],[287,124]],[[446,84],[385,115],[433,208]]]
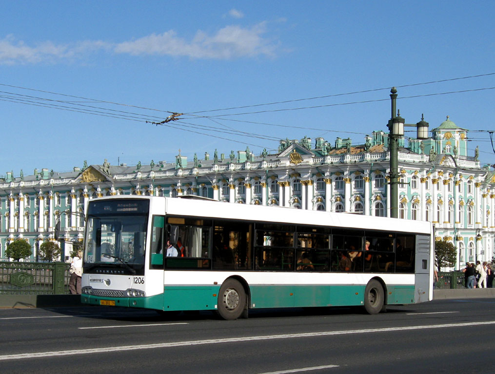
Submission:
[[[493,373],[495,299],[162,316],[0,309],[1,373]]]

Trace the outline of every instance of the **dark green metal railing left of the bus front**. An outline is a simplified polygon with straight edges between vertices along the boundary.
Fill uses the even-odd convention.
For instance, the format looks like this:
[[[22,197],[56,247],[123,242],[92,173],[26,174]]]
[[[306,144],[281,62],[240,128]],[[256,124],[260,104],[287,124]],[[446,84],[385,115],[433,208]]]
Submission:
[[[66,262],[0,262],[0,294],[69,293]]]

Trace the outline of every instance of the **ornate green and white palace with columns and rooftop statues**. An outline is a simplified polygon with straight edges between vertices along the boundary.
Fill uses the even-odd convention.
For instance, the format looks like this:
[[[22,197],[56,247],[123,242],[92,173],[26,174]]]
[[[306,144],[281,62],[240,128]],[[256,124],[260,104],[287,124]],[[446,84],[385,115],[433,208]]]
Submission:
[[[429,139],[401,138],[398,151],[399,217],[433,222],[437,240],[458,249],[457,269],[494,257],[495,173],[480,165],[477,151],[468,156],[468,132],[447,117]],[[218,157],[215,150],[213,157],[178,155],[168,163],[113,166],[105,160],[71,172],[7,172],[0,179],[0,259],[8,260],[8,244],[23,238],[33,247],[29,260],[36,260],[39,245],[54,240],[58,220],[67,256],[83,239],[88,201],[109,195],[199,195],[231,204],[390,216],[388,139],[383,131],[360,144],[304,137],[281,140],[270,154],[247,148]]]

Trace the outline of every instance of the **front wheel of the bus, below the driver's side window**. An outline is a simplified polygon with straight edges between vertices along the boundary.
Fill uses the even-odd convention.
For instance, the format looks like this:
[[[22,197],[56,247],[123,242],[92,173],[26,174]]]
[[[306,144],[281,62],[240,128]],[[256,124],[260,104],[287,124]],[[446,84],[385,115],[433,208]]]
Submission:
[[[224,320],[236,320],[246,307],[246,291],[239,281],[227,279],[218,292],[217,312]]]

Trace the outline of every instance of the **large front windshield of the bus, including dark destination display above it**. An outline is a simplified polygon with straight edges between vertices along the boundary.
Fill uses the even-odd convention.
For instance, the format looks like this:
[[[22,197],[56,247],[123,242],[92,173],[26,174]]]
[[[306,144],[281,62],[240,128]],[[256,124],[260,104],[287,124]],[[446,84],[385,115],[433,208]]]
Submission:
[[[90,202],[84,272],[144,274],[147,200]]]

